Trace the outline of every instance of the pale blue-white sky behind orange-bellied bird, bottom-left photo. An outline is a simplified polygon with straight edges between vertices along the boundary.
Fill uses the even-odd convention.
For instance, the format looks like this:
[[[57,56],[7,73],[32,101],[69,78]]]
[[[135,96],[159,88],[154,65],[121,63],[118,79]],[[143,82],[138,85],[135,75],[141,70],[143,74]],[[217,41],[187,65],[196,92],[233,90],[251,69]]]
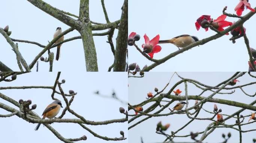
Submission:
[[[57,72],[53,73],[27,73],[18,75],[17,79],[13,82],[0,82],[1,86],[53,86]],[[123,101],[128,101],[127,91],[127,74],[124,73],[77,73],[71,74],[68,72],[62,72],[60,81],[65,79],[66,82],[62,85],[65,93],[68,90],[74,90],[77,95],[71,104],[77,114],[85,117],[86,120],[91,121],[105,121],[112,119],[125,118],[124,114],[119,112],[119,107],[127,109],[127,105],[121,104],[121,102],[115,99],[102,98],[94,94],[96,90],[104,95],[111,96],[112,91],[116,92],[116,95]],[[42,115],[43,110],[48,104],[52,102],[50,89],[8,89],[0,90],[6,96],[15,99],[32,100],[32,104],[37,104],[37,108],[34,110],[38,115]],[[55,98],[61,99],[63,107],[65,103],[61,95],[55,94]],[[70,98],[68,98],[70,99]],[[12,104],[0,99],[0,102],[10,105],[13,108],[18,109]],[[57,117],[61,114],[60,113]],[[10,112],[0,109],[0,114],[9,114]],[[76,118],[70,113],[66,113],[63,118]],[[40,126],[38,131],[34,131],[37,124],[28,123],[16,116],[10,118],[0,118],[0,127],[4,130],[1,133],[1,142],[13,143],[25,140],[28,143],[60,143],[61,141],[51,132],[48,128]],[[94,137],[91,133],[83,130],[80,125],[73,123],[54,123],[51,124],[63,137],[65,138],[77,138],[83,135],[87,136],[86,141],[79,141],[77,143],[110,143],[113,141],[106,141]],[[125,137],[128,137],[127,122],[114,123],[108,125],[87,125],[92,131],[101,136],[107,137],[121,137],[120,131],[124,131]],[[27,137],[27,138],[26,138]],[[128,140],[118,141],[120,143],[128,143]]]

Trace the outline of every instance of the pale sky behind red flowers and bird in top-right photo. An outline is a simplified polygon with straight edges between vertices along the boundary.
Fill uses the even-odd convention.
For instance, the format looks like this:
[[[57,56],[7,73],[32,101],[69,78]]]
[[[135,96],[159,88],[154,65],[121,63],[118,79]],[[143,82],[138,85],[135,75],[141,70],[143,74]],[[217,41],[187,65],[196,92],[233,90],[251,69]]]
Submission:
[[[143,35],[146,33],[149,39],[160,35],[160,40],[171,39],[182,34],[197,36],[204,39],[216,34],[216,32],[199,31],[195,28],[196,19],[201,15],[211,15],[216,19],[222,15],[223,7],[228,6],[226,12],[235,13],[234,8],[239,0],[214,0],[205,2],[202,0],[129,0],[129,29],[128,33],[137,32],[140,34],[140,41],[137,45],[141,48],[144,44]],[[252,7],[256,1],[249,1]],[[243,15],[250,10],[245,10]],[[234,22],[238,18],[226,18]],[[250,47],[256,48],[255,22],[256,16],[244,23],[246,34],[250,40]],[[237,39],[235,44],[229,41],[231,34],[222,36],[219,39],[210,41],[192,50],[185,51],[174,58],[155,67],[151,71],[248,71],[248,52],[243,38]],[[154,54],[155,59],[161,59],[170,53],[178,50],[175,45],[161,44],[162,50]],[[128,47],[129,63],[137,63],[141,67],[145,64],[152,64],[141,55],[135,47]]]

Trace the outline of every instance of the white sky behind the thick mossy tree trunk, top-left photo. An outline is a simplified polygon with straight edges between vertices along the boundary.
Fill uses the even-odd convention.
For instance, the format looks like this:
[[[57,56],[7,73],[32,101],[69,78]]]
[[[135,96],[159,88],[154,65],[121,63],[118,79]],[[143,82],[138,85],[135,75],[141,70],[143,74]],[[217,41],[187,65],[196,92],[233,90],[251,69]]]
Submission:
[[[58,9],[70,12],[74,15],[79,15],[79,0],[44,1]],[[115,1],[114,4],[112,0],[105,0],[105,7],[110,22],[114,22],[121,18],[121,7],[123,3],[123,0]],[[12,35],[10,35],[11,38],[35,41],[47,45],[48,41],[52,40],[57,27],[61,27],[63,31],[69,28],[69,26],[38,9],[26,0],[3,0],[1,1],[1,5],[4,7],[0,9],[0,13],[2,13],[0,27],[4,28],[6,25],[9,25],[9,31],[12,31]],[[89,12],[92,21],[106,23],[100,0],[90,1]],[[98,33],[106,31],[107,30],[93,32]],[[114,45],[117,32],[118,31],[116,31],[113,36]],[[64,39],[79,35],[79,32],[74,30],[65,35]],[[113,53],[110,50],[109,43],[106,41],[107,36],[94,36],[99,71],[107,71],[114,61]],[[30,64],[36,55],[43,50],[43,48],[33,44],[20,42],[18,44],[19,51],[28,64]],[[9,43],[6,42],[6,39],[2,35],[0,36],[0,47],[0,61],[12,70],[19,71],[19,67],[16,63],[16,56]],[[56,49],[57,48],[51,49],[51,51],[54,52],[54,55],[56,55]],[[43,56],[48,57],[47,52]],[[73,71],[86,71],[85,56],[81,39],[64,43],[61,46],[60,60],[54,60],[53,71],[66,71],[70,69]],[[33,68],[32,71],[36,71],[36,68]],[[39,60],[39,71],[49,71],[49,63]]]

